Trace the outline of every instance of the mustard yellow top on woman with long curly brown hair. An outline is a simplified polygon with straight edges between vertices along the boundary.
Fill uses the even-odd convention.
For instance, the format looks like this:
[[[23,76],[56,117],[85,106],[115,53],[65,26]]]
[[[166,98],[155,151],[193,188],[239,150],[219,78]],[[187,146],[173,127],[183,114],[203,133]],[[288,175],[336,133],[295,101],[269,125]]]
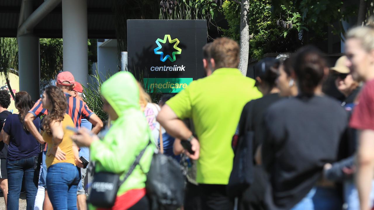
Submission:
[[[67,126],[75,127],[73,120],[71,120],[71,117],[68,114],[65,114],[64,120],[62,120],[62,129],[64,130],[64,138],[62,138],[62,142],[59,145],[59,148],[65,152],[66,159],[59,161],[55,158],[54,155],[46,156],[46,165],[47,168],[53,164],[56,163],[71,163],[75,166],[74,161],[74,152],[73,152],[73,140],[71,140],[71,136],[74,134],[73,131],[66,129]],[[45,142],[47,142],[49,145],[52,146],[52,136],[48,135],[46,132],[43,133],[43,139]],[[51,148],[51,146],[48,146],[48,152]],[[48,153],[47,152],[47,153]]]

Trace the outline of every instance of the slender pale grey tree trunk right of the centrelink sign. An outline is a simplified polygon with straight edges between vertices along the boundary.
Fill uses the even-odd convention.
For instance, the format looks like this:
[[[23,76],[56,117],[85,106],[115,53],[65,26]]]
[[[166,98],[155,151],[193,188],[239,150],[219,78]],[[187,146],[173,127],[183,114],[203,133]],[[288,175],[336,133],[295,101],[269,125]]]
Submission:
[[[243,75],[247,75],[249,56],[249,27],[248,27],[249,0],[242,0],[240,9],[240,52],[239,70]]]

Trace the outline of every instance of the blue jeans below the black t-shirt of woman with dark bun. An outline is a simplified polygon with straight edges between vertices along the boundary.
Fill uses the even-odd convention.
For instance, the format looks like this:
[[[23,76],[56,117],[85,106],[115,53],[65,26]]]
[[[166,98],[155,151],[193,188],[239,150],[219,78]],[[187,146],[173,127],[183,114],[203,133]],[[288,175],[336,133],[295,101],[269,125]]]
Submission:
[[[315,186],[291,210],[341,210],[339,195],[335,188]]]

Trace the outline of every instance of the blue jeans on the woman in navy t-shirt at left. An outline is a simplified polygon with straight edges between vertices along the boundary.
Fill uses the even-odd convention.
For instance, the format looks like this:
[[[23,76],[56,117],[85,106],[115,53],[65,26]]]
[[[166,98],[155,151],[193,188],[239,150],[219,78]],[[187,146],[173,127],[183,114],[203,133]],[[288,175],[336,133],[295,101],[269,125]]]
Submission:
[[[36,192],[38,190],[37,174],[34,172],[34,161],[38,156],[24,158],[15,161],[7,161],[8,175],[8,210],[18,210],[19,194],[21,193],[22,179],[26,190],[27,210],[34,209]]]

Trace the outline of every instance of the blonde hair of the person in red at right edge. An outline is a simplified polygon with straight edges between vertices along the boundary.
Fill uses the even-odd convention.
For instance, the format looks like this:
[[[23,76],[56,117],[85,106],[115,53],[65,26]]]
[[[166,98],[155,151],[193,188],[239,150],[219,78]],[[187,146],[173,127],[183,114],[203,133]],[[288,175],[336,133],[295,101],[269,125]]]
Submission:
[[[350,29],[346,34],[346,39],[356,38],[361,41],[362,47],[370,52],[374,50],[374,28],[371,26],[358,26]]]

